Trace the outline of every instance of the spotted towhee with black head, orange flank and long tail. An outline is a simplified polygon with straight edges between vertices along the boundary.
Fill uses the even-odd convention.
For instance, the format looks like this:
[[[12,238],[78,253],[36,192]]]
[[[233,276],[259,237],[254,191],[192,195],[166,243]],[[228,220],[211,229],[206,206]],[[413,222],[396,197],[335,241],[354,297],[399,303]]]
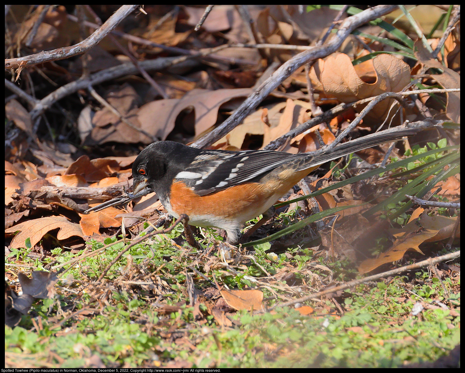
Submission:
[[[173,217],[189,225],[226,231],[238,244],[241,229],[272,206],[321,164],[417,131],[373,134],[339,144],[318,155],[270,150],[212,150],[156,141],[133,162],[133,193],[155,192]],[[272,215],[272,214],[271,214]]]

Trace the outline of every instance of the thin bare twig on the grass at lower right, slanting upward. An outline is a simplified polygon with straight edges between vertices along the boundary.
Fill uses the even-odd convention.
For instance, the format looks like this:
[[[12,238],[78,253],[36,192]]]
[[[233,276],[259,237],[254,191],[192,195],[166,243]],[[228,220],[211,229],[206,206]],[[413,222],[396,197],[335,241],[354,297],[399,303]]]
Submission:
[[[348,283],[345,283],[345,284],[340,285],[340,286],[336,286],[335,288],[330,288],[330,289],[320,291],[319,293],[313,293],[313,294],[310,294],[308,296],[303,296],[301,298],[297,298],[297,299],[294,299],[294,300],[289,301],[289,302],[278,303],[278,304],[275,304],[274,306],[270,307],[268,309],[268,311],[271,311],[271,310],[273,310],[275,308],[278,308],[278,307],[287,307],[287,306],[292,306],[295,303],[306,302],[306,301],[309,301],[310,299],[318,298],[320,296],[324,296],[325,294],[334,293],[336,291],[352,288],[353,286],[359,285],[361,283],[366,283],[366,282],[369,282],[369,281],[378,280],[379,278],[383,278],[383,277],[398,275],[399,273],[402,273],[402,272],[405,272],[405,271],[408,271],[408,270],[416,270],[418,268],[427,267],[428,265],[444,262],[446,260],[450,260],[450,259],[453,259],[453,258],[456,258],[456,257],[459,257],[459,256],[460,256],[460,250],[455,251],[455,252],[451,252],[449,254],[442,255],[440,257],[428,258],[428,259],[423,260],[421,262],[406,265],[404,267],[400,267],[400,268],[397,268],[395,270],[389,270],[389,271],[386,271],[386,272],[379,273],[377,275],[361,278],[359,280],[349,281]]]

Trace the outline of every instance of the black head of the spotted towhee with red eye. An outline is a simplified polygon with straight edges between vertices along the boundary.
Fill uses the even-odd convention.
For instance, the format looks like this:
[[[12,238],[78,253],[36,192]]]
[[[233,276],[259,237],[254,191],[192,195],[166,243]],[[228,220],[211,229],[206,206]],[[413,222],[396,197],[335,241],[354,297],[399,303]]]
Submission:
[[[146,187],[157,194],[169,193],[174,176],[187,167],[198,152],[199,149],[174,141],[153,142],[133,163],[133,193]]]

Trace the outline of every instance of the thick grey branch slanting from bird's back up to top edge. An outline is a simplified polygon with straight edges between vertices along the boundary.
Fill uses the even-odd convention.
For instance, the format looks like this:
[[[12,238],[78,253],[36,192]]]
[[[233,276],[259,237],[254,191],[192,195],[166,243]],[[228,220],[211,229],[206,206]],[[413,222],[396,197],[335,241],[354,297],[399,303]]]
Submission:
[[[239,106],[232,116],[226,119],[225,122],[219,125],[219,127],[214,129],[212,132],[208,133],[198,141],[195,141],[193,146],[196,148],[204,148],[207,145],[212,144],[214,141],[219,140],[242,122],[242,120],[272,92],[272,90],[277,88],[287,77],[290,77],[300,66],[313,59],[323,58],[333,53],[356,27],[392,12],[395,7],[396,5],[374,6],[345,19],[335,37],[332,38],[327,45],[314,47],[312,50],[301,52],[286,61],[270,78],[268,78],[255,92],[253,92],[252,95],[246,98],[244,103]]]

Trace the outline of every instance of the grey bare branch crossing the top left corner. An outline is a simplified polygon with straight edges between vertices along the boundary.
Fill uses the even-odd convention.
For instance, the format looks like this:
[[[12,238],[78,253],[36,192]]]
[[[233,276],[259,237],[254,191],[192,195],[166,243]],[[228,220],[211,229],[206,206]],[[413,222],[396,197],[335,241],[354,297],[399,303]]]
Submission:
[[[31,54],[25,57],[18,58],[7,58],[5,59],[5,69],[16,69],[18,67],[25,67],[32,64],[40,64],[47,61],[56,61],[63,58],[82,54],[89,49],[93,48],[94,45],[100,42],[108,32],[116,27],[129,13],[133,12],[138,5],[123,5],[113,15],[106,20],[106,22],[86,40],[81,41],[78,44],[57,48],[53,51],[41,51],[36,54]]]

